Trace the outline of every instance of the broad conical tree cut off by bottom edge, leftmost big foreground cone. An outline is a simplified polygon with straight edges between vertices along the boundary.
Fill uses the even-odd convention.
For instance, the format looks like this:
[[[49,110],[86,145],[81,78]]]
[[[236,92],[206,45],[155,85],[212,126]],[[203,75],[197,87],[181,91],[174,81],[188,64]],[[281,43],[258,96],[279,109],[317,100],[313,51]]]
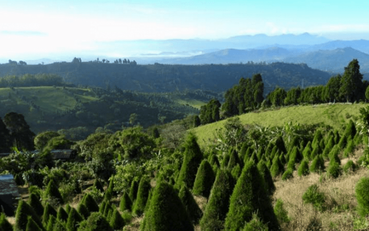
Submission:
[[[193,231],[181,199],[173,186],[159,181],[154,189],[150,207],[141,231]]]

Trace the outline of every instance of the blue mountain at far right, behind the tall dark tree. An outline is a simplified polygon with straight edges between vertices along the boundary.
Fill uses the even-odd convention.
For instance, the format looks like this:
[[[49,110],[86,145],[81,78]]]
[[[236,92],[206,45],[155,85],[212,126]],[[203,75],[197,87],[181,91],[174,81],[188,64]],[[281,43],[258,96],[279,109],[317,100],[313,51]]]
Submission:
[[[359,60],[362,73],[369,72],[369,55],[351,47],[309,52],[296,57],[284,58],[283,61],[306,63],[308,66],[319,70],[342,73],[344,67],[354,58]]]

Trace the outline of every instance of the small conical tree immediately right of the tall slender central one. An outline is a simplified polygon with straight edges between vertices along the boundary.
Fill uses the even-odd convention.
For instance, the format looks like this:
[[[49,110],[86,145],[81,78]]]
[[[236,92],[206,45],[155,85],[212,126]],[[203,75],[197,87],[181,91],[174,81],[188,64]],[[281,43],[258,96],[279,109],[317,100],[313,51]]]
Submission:
[[[212,166],[207,160],[203,160],[197,170],[195,183],[193,184],[192,193],[208,198],[215,180],[215,174]]]

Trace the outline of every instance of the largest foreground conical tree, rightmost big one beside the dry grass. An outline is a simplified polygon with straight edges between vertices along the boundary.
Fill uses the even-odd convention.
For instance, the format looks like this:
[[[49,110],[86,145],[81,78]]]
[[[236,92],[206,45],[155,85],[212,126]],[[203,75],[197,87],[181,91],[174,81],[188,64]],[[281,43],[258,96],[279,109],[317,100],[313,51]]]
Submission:
[[[264,179],[253,161],[249,161],[242,170],[233,190],[229,211],[225,218],[225,231],[239,231],[245,222],[256,213],[261,221],[268,224],[269,230],[278,230],[276,215],[265,190]]]

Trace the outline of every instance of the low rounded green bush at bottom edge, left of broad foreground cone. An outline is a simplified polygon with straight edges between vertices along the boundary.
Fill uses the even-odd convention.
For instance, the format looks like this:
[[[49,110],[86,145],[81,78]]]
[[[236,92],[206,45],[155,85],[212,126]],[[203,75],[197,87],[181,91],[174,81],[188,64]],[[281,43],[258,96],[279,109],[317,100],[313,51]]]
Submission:
[[[109,222],[98,212],[93,212],[89,218],[80,223],[78,231],[114,231]]]

